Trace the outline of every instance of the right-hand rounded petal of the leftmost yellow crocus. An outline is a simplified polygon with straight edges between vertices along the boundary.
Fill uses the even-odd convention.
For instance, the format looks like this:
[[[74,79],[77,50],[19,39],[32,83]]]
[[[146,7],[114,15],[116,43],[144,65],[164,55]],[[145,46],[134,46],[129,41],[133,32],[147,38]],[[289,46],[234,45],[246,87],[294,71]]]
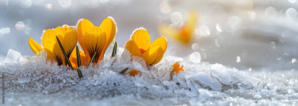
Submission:
[[[63,37],[63,48],[67,57],[70,57],[72,50],[74,50],[75,46],[77,45],[78,35],[77,30],[73,27],[69,27],[66,30],[65,36]]]

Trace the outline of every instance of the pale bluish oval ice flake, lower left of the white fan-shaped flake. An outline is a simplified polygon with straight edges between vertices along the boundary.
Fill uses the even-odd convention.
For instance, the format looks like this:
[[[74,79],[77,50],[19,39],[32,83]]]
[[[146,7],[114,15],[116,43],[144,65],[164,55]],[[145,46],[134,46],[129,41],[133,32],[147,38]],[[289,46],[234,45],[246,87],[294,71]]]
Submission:
[[[198,81],[200,81],[201,83],[208,85],[208,86],[211,85],[211,83],[212,83],[211,76],[205,72],[198,72],[197,74],[193,75],[193,77],[195,79],[197,79]]]

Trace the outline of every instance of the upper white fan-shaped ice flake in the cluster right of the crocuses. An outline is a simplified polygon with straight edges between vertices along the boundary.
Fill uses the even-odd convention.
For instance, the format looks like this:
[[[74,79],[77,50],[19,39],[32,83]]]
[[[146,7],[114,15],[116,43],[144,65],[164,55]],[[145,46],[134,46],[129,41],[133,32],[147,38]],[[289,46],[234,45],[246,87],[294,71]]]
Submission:
[[[226,68],[221,64],[210,64],[210,72],[211,76],[214,77],[225,77],[226,76]],[[229,79],[231,81],[231,78]]]

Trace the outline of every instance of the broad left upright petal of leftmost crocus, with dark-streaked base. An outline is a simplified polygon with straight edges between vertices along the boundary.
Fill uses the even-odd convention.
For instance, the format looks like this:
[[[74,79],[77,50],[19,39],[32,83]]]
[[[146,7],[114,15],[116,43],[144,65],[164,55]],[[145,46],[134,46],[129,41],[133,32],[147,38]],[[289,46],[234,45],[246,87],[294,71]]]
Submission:
[[[47,59],[55,60],[58,62],[58,65],[62,65],[65,64],[65,58],[56,36],[58,36],[59,40],[63,39],[62,35],[55,29],[47,29],[41,37],[41,44],[47,53]]]

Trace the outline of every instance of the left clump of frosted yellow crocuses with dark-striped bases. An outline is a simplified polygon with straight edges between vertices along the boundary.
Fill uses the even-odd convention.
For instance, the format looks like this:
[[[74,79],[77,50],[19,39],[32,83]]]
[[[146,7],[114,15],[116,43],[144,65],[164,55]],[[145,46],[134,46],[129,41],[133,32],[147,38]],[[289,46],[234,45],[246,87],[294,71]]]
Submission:
[[[47,59],[57,61],[58,65],[66,63],[66,59],[75,68],[78,68],[77,53],[74,50],[77,42],[80,43],[82,50],[78,50],[80,54],[81,65],[89,64],[91,57],[96,53],[93,63],[97,63],[103,58],[106,49],[114,40],[117,32],[117,26],[112,17],[105,18],[100,26],[94,26],[89,20],[81,19],[77,23],[77,29],[72,26],[63,25],[55,29],[47,29],[41,37],[41,45],[29,38],[31,50],[40,55],[40,51],[47,52]],[[58,44],[58,37],[61,46]]]

